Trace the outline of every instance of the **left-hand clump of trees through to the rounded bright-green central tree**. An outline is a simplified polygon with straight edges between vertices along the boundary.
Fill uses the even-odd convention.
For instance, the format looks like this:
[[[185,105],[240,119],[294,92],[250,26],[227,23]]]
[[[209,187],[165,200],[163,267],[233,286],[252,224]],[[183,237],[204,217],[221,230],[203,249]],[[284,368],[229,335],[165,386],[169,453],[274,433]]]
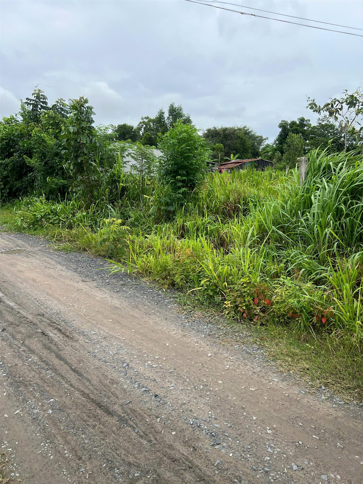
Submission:
[[[203,180],[210,150],[181,106],[172,103],[167,116],[162,109],[155,118],[145,116],[136,128],[95,127],[93,115],[83,96],[49,105],[36,87],[30,98],[20,100],[19,113],[0,121],[1,199],[29,194],[55,199],[71,192],[89,206],[104,197],[118,201],[133,191],[142,205],[157,177],[160,204],[169,213]],[[116,142],[122,137],[126,141]],[[161,157],[153,145],[160,147]],[[132,159],[127,176],[126,157]]]

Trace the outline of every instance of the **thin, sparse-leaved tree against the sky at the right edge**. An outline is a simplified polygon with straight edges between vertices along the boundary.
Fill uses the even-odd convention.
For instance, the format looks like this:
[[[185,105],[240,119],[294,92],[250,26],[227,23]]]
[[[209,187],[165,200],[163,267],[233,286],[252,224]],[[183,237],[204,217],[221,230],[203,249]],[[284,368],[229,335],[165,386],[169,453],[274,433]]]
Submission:
[[[344,132],[344,149],[348,148],[349,136],[356,139],[356,144],[363,145],[363,91],[358,88],[352,94],[347,89],[341,98],[329,98],[323,106],[319,106],[315,99],[307,98],[308,107],[321,115],[327,114]]]

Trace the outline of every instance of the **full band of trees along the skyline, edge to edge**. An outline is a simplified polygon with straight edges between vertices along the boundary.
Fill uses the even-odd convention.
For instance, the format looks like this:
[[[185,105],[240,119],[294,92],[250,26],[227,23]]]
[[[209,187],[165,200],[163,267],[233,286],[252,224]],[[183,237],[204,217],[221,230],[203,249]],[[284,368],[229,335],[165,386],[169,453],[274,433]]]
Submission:
[[[95,127],[94,113],[86,98],[69,103],[58,99],[49,105],[45,93],[36,88],[31,97],[21,101],[17,115],[0,121],[1,195],[11,199],[35,189],[47,196],[58,196],[70,186],[75,187],[75,180],[78,187],[87,191],[92,182],[90,167],[101,162],[104,166],[111,165],[115,150],[121,150],[115,141],[136,144],[136,152],[144,159],[152,150],[143,151],[143,147],[161,146],[161,140],[164,148],[166,140],[176,143],[171,135],[166,136],[176,127],[181,138],[193,139],[196,146],[198,139],[206,149],[207,158],[218,163],[224,159],[261,156],[277,168],[285,169],[285,166],[296,166],[298,157],[310,150],[335,152],[363,148],[363,92],[360,89],[352,94],[344,91],[342,98],[331,98],[323,106],[308,98],[307,107],[320,116],[316,124],[303,117],[282,120],[276,139],[266,143],[267,138],[246,125],[198,130],[190,115],[175,103],[168,106],[167,112],[160,108],[153,118],[143,116],[136,126],[123,123]],[[178,149],[181,156],[182,143]],[[144,176],[146,165],[143,161],[141,184],[148,179]],[[185,169],[183,166],[181,172]]]

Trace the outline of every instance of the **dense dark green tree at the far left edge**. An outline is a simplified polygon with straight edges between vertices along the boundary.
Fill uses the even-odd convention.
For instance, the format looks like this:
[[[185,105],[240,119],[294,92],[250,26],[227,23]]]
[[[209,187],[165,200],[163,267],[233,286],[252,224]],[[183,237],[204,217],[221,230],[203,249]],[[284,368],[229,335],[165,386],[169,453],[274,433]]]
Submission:
[[[61,132],[68,106],[57,100],[50,108],[43,91],[21,102],[16,116],[0,122],[1,195],[12,199],[31,193],[56,197],[70,182],[63,167]]]

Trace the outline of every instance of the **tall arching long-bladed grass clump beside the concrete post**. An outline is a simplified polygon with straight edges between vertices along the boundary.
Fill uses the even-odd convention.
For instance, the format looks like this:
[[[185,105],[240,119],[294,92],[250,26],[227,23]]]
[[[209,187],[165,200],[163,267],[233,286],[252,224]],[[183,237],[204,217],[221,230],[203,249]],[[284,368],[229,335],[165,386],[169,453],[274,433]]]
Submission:
[[[363,246],[362,155],[313,151],[302,186],[261,210],[264,229],[282,244],[299,241],[325,263]]]

